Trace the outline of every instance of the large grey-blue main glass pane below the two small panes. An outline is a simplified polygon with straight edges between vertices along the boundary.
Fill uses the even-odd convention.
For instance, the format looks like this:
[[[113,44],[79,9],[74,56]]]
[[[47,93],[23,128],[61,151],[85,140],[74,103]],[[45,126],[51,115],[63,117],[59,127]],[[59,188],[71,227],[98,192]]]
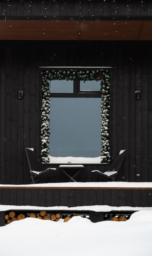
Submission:
[[[101,98],[50,99],[50,155],[101,155]]]

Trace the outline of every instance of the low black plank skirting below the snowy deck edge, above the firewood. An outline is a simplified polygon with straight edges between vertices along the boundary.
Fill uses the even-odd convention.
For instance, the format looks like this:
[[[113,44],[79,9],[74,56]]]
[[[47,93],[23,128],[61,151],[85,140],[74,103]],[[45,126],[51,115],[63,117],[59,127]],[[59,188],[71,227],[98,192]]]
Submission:
[[[0,204],[52,206],[110,205],[152,207],[151,189],[0,189]],[[27,207],[28,208],[28,207]]]

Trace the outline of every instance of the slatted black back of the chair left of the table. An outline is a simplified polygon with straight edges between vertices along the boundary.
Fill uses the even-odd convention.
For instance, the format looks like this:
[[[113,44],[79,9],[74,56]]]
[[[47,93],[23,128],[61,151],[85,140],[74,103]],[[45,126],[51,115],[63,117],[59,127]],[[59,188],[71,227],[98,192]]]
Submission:
[[[37,157],[34,148],[25,148],[27,160],[28,160],[28,166],[30,168],[30,171],[43,171],[42,164],[40,162],[40,159]]]

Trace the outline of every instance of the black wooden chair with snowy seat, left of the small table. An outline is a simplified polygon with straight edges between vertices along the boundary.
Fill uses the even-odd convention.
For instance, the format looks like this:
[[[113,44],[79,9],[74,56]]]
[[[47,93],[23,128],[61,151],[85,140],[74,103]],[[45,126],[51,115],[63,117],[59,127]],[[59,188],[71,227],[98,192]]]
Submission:
[[[30,169],[31,183],[48,183],[54,175],[56,168],[48,168],[43,170],[42,164],[37,157],[34,148],[25,148],[28,166]]]

